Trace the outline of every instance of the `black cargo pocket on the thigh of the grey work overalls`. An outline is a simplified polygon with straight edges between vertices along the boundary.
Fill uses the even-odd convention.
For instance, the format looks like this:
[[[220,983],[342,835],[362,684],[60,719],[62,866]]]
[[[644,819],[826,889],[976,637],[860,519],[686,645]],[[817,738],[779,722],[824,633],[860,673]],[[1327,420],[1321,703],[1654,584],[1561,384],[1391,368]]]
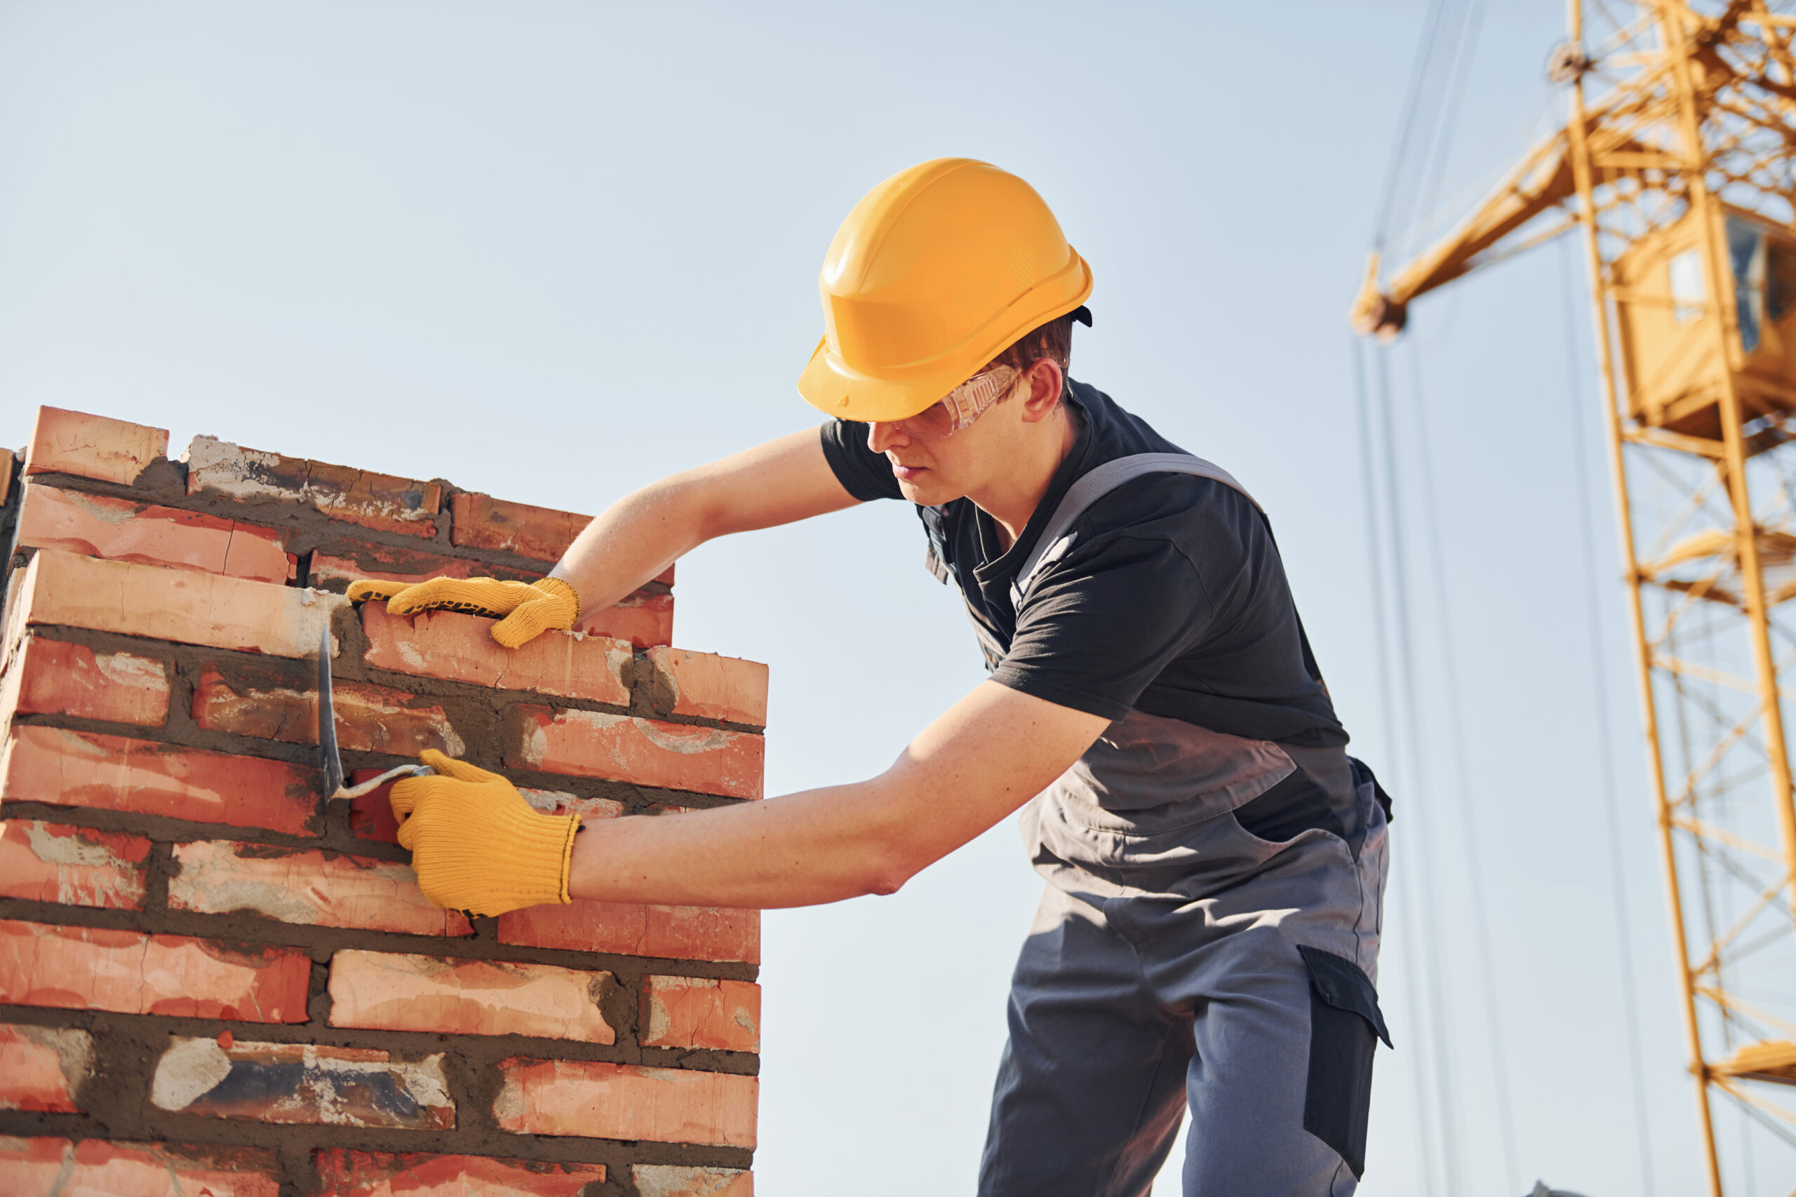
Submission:
[[[1372,1052],[1390,1046],[1378,992],[1360,965],[1320,948],[1299,946],[1309,967],[1309,1080],[1304,1131],[1365,1174],[1365,1125],[1372,1107]]]

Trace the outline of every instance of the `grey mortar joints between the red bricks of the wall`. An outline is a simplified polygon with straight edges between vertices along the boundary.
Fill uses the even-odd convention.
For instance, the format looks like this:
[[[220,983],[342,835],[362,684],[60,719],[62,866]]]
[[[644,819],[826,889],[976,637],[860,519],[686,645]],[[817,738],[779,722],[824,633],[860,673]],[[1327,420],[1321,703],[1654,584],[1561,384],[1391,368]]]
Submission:
[[[9,549],[9,567],[18,567],[29,560],[29,551],[16,551],[14,524],[20,506],[18,497],[22,495],[22,477],[18,477],[18,468],[20,467],[14,465],[14,490],[11,501],[5,508],[0,508],[0,544]],[[208,515],[237,519],[246,524],[273,528],[284,535],[286,549],[300,556],[302,569],[293,585],[302,585],[307,580],[311,555],[314,551],[361,560],[372,569],[377,567],[377,564],[365,555],[365,549],[361,549],[361,546],[370,544],[480,562],[483,565],[490,565],[497,576],[535,576],[544,572],[544,567],[550,565],[548,562],[451,544],[451,497],[458,494],[458,490],[451,483],[442,479],[436,481],[444,486],[442,511],[436,515],[436,535],[424,538],[332,520],[321,511],[300,504],[298,501],[235,501],[224,495],[189,497],[185,468],[180,463],[167,459],[153,461],[138,476],[133,486],[120,486],[63,474],[40,474],[32,477],[32,485],[54,485],[68,490],[117,495],[138,502],[156,502],[189,511],[205,511]],[[329,589],[338,589],[338,585],[332,583]],[[648,592],[668,590],[666,585],[656,581],[650,581],[641,589]],[[93,730],[113,736],[187,745],[194,748],[210,748],[233,756],[260,756],[298,765],[316,765],[314,745],[250,739],[228,732],[207,730],[198,727],[192,718],[194,686],[207,664],[217,666],[226,678],[244,678],[251,675],[273,677],[282,678],[293,687],[309,689],[316,684],[316,666],[313,662],[172,644],[167,641],[149,641],[144,637],[90,632],[81,628],[38,626],[32,628],[32,632],[45,639],[72,641],[102,651],[131,651],[165,662],[171,677],[171,709],[169,721],[162,729],[99,723],[93,720],[75,720],[59,714],[18,716],[20,723],[43,723],[50,727]],[[508,709],[519,703],[528,703],[539,707],[546,705],[555,711],[607,711],[616,714],[657,718],[668,723],[760,732],[760,727],[754,725],[672,714],[668,711],[672,705],[672,686],[668,684],[668,678],[657,677],[659,671],[650,666],[645,651],[638,651],[634,655],[630,675],[627,678],[632,682],[630,702],[629,705],[620,707],[614,703],[555,698],[530,691],[499,691],[460,682],[442,682],[436,678],[370,669],[363,662],[363,651],[366,651],[368,644],[361,630],[361,621],[354,614],[343,612],[336,617],[334,632],[338,633],[341,644],[341,651],[332,662],[334,677],[388,686],[420,698],[429,698],[435,705],[444,707],[444,712],[449,716],[451,723],[454,723],[458,734],[465,739],[467,759],[505,773],[521,786],[560,790],[580,797],[603,797],[618,800],[623,804],[627,815],[648,813],[652,808],[665,804],[688,808],[731,806],[736,799],[659,790],[589,777],[569,777],[541,770],[505,768],[501,763],[499,736],[503,732],[505,714]],[[354,770],[386,768],[408,757],[377,752],[345,752],[343,759],[345,768]],[[101,910],[86,906],[61,906],[56,903],[0,899],[0,917],[31,922],[52,922],[61,926],[196,935],[217,940],[221,946],[244,951],[255,951],[266,946],[302,948],[313,958],[313,976],[307,1003],[309,1018],[305,1023],[298,1025],[262,1025],[162,1014],[113,1014],[104,1010],[0,1005],[0,1019],[4,1021],[34,1027],[75,1027],[92,1034],[95,1043],[93,1073],[79,1086],[77,1093],[77,1102],[88,1113],[50,1114],[0,1111],[0,1134],[52,1134],[72,1140],[167,1140],[221,1147],[271,1147],[286,1170],[286,1179],[280,1188],[282,1197],[304,1197],[305,1193],[314,1192],[311,1179],[311,1154],[316,1149],[327,1147],[381,1152],[462,1152],[546,1163],[603,1163],[607,1166],[607,1181],[585,1186],[582,1193],[587,1197],[632,1197],[636,1193],[630,1179],[632,1163],[711,1165],[726,1168],[753,1166],[754,1152],[749,1149],[506,1134],[499,1131],[492,1120],[492,1100],[497,1097],[501,1088],[497,1064],[512,1055],[533,1059],[609,1061],[656,1068],[700,1068],[706,1071],[756,1075],[760,1071],[760,1057],[754,1053],[645,1048],[636,1043],[636,1019],[639,1012],[638,998],[643,976],[677,974],[754,980],[760,974],[760,969],[754,964],[659,960],[611,953],[506,946],[497,940],[497,926],[494,919],[474,919],[472,935],[444,939],[278,922],[246,910],[224,915],[208,915],[167,908],[169,878],[174,876],[178,869],[172,858],[172,843],[178,842],[237,840],[302,851],[318,849],[330,854],[409,860],[409,852],[397,845],[354,836],[348,829],[348,804],[320,802],[320,806],[327,806],[329,809],[314,817],[314,826],[321,831],[316,838],[291,836],[255,827],[196,824],[133,811],[63,808],[41,802],[9,802],[5,806],[5,815],[9,818],[43,818],[104,831],[128,831],[153,840],[153,849],[145,861],[144,910]],[[345,948],[404,951],[471,960],[519,960],[555,964],[573,969],[609,971],[614,980],[602,994],[600,1009],[605,1014],[605,1021],[616,1030],[616,1043],[603,1046],[524,1035],[447,1035],[429,1032],[354,1030],[329,1027],[330,996],[325,989],[329,980],[327,965],[330,955]],[[149,1084],[154,1075],[156,1062],[169,1044],[169,1037],[216,1035],[221,1028],[228,1028],[233,1035],[246,1041],[316,1043],[329,1046],[379,1048],[395,1053],[445,1052],[445,1068],[449,1071],[451,1091],[456,1100],[456,1129],[393,1131],[372,1127],[273,1125],[250,1120],[171,1114],[154,1109],[147,1100]]]

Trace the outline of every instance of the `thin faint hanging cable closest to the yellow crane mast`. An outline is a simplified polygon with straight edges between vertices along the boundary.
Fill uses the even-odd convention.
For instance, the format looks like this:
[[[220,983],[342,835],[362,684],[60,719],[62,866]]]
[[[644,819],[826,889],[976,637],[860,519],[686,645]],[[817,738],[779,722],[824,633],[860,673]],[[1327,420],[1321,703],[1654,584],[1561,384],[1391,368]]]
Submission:
[[[1597,533],[1589,515],[1589,467],[1584,459],[1584,411],[1579,402],[1575,310],[1572,300],[1572,251],[1559,242],[1559,282],[1564,298],[1566,391],[1572,397],[1572,461],[1577,481],[1579,537],[1584,549],[1584,596],[1589,639],[1589,684],[1597,716],[1597,756],[1602,761],[1602,809],[1609,824],[1609,892],[1615,899],[1615,942],[1622,965],[1622,1009],[1627,1025],[1627,1068],[1634,1089],[1634,1140],[1640,1152],[1640,1186],[1652,1197],[1652,1125],[1647,1118],[1647,1070],[1640,1044],[1640,1000],[1634,996],[1634,930],[1627,917],[1625,856],[1622,852],[1622,804],[1615,784],[1615,750],[1609,743],[1607,664],[1602,651],[1602,603],[1597,585]]]

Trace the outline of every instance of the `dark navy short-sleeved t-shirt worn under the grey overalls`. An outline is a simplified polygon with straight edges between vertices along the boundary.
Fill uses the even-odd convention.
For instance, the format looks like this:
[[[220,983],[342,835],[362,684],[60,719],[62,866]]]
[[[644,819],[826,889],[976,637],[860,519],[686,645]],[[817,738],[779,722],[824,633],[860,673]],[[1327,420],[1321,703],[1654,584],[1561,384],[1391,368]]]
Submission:
[[[1266,517],[1225,483],[1148,474],[1112,490],[1011,608],[1011,581],[1074,481],[1115,458],[1184,452],[1092,386],[1069,380],[1067,395],[1078,440],[1008,551],[972,499],[918,510],[938,574],[954,578],[1002,650],[988,651],[991,678],[1110,720],[1137,707],[1250,739],[1345,745]],[[821,434],[848,494],[903,497],[891,461],[867,447],[867,425],[837,420]],[[1325,826],[1324,806],[1299,772],[1239,815],[1282,838]]]

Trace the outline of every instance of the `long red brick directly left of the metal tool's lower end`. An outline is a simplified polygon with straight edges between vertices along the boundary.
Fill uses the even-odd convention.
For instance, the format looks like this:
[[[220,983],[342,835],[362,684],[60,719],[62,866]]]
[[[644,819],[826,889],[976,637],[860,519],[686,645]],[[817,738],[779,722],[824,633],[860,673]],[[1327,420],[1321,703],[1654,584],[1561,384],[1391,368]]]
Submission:
[[[0,800],[318,834],[318,770],[59,727],[13,729]]]

